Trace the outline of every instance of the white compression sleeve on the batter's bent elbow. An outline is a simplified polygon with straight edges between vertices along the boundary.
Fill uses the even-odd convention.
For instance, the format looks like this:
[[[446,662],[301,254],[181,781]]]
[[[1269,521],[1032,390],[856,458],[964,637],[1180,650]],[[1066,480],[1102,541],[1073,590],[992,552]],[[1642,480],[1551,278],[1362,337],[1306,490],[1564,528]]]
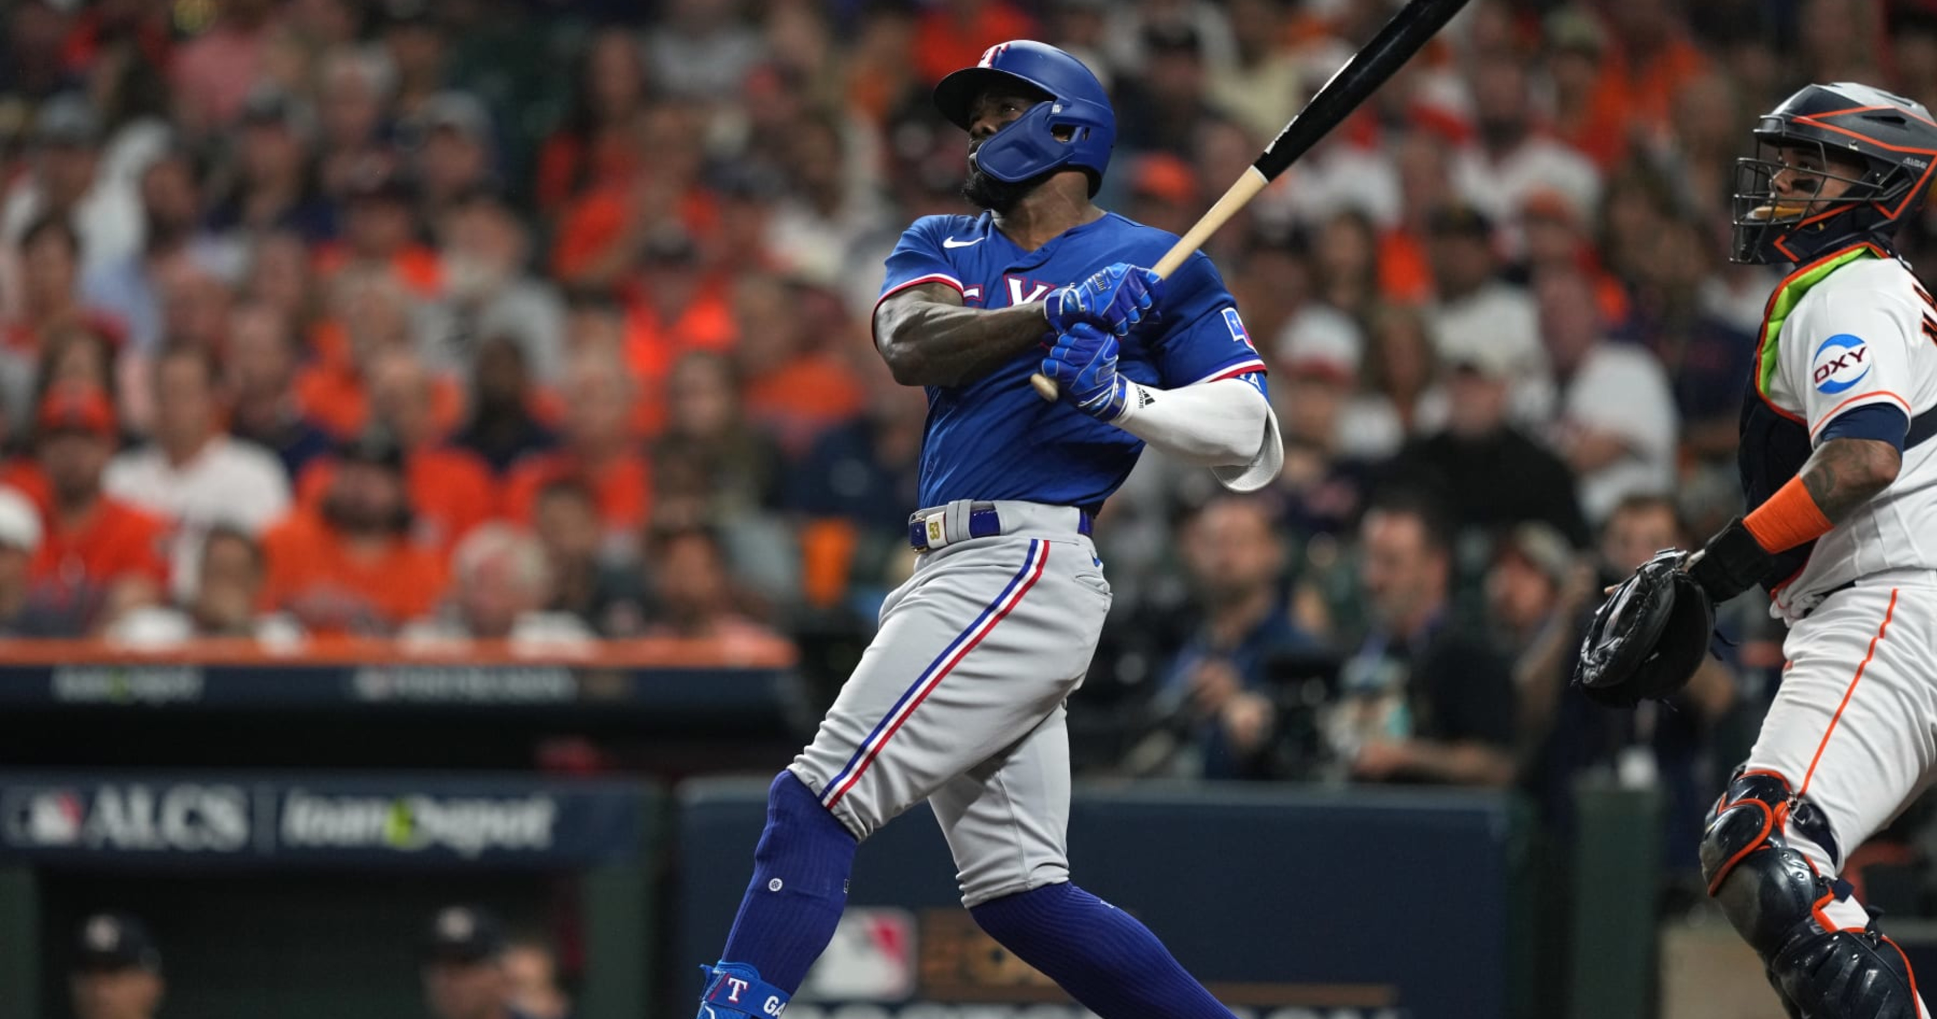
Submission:
[[[1211,467],[1226,488],[1251,492],[1278,475],[1284,446],[1271,401],[1242,378],[1182,389],[1129,384],[1116,426],[1174,457]]]

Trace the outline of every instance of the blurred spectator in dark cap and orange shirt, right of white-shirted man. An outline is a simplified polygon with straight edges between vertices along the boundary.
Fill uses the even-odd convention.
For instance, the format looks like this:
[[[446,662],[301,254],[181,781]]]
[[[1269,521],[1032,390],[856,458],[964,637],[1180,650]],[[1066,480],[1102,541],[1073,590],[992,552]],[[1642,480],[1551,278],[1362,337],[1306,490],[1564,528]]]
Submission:
[[[263,601],[316,633],[391,633],[436,604],[444,560],[413,540],[403,449],[382,430],[343,444],[322,506],[263,535]]]

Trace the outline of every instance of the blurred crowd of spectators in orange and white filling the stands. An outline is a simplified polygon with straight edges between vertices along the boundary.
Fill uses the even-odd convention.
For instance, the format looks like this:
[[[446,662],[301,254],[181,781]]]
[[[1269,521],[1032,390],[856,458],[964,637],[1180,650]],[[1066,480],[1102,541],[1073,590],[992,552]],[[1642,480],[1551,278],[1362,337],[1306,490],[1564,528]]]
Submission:
[[[0,632],[866,639],[926,407],[881,258],[970,211],[932,83],[1069,48],[1098,201],[1182,231],[1395,8],[19,0]],[[1737,511],[1776,271],[1726,260],[1732,161],[1834,79],[1937,97],[1937,10],[1474,0],[1224,227],[1286,467],[1106,508],[1083,767],[1706,796],[1780,663],[1753,599],[1674,705],[1565,682],[1602,583]]]

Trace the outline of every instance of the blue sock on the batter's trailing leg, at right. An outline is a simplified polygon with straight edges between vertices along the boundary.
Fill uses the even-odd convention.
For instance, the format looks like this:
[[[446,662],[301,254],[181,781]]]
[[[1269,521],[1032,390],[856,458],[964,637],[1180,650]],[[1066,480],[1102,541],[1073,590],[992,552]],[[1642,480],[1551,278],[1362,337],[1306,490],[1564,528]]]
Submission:
[[[1042,885],[968,912],[1102,1019],[1232,1019],[1151,928],[1077,885]]]

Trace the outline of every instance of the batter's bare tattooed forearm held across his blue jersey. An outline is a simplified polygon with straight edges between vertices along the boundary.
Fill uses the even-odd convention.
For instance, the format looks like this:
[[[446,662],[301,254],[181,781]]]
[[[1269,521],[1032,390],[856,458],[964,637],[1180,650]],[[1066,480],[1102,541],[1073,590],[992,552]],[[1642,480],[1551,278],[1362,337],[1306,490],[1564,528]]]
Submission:
[[[874,324],[876,347],[903,386],[965,386],[1050,333],[1042,304],[967,308],[941,285],[891,296]]]

